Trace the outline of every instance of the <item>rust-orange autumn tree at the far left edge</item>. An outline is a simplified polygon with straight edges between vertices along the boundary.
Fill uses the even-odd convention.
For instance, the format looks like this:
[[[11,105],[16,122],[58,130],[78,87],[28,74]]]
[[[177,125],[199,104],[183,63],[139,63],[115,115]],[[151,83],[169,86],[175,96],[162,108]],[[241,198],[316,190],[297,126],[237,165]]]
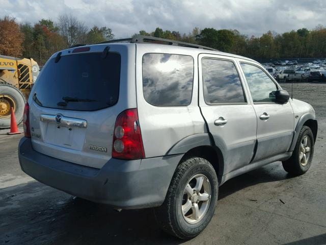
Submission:
[[[0,18],[0,54],[20,57],[23,52],[24,35],[19,30],[15,18]]]

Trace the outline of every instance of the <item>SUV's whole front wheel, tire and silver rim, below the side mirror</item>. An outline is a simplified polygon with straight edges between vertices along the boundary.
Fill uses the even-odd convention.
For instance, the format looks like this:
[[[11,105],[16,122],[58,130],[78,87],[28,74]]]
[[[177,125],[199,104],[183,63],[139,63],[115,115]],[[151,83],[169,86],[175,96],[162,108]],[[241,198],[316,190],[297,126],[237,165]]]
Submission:
[[[306,138],[307,138],[307,142],[305,145],[304,140]],[[303,146],[305,150],[303,150]],[[309,152],[307,151],[308,150],[307,147],[309,147]],[[304,157],[308,159],[304,161],[304,157],[302,157],[303,155],[301,154],[303,154]],[[294,176],[305,174],[306,171],[308,171],[308,169],[311,166],[313,154],[314,154],[314,136],[309,127],[303,126],[297,138],[292,156],[288,160],[282,162],[284,170],[287,171],[287,173]]]

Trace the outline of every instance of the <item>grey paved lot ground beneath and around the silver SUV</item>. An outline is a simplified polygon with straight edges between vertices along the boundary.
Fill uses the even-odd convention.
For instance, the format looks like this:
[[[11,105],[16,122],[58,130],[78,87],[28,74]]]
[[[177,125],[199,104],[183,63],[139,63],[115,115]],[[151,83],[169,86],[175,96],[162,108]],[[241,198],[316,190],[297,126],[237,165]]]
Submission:
[[[162,233],[151,210],[119,213],[34,181],[19,167],[22,136],[0,131],[0,244],[326,244],[326,84],[293,91],[319,124],[308,173],[291,178],[275,162],[228,181],[210,224],[190,241]]]

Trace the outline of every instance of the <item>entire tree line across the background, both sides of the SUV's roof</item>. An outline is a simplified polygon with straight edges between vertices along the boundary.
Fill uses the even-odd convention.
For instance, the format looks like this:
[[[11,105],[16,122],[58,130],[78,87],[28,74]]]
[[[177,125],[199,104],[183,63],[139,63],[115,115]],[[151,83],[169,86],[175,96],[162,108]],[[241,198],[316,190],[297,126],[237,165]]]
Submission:
[[[162,30],[141,30],[145,35],[200,44],[227,53],[253,59],[326,57],[326,28],[317,26],[278,34],[268,31],[261,37],[241,34],[237,30],[194,28],[190,33]],[[133,35],[133,36],[134,36]],[[111,28],[93,26],[71,15],[60,15],[56,22],[41,19],[35,24],[17,23],[15,18],[0,18],[0,54],[33,58],[40,64],[55,52],[73,44],[92,44],[114,39]]]

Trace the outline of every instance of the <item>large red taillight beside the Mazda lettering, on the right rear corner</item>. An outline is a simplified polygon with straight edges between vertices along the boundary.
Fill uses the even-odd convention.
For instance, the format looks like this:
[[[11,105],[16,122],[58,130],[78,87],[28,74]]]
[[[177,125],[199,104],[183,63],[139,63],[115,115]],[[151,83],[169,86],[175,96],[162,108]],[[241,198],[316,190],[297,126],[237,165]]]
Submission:
[[[116,119],[112,157],[128,160],[145,158],[136,108],[121,112]]]

